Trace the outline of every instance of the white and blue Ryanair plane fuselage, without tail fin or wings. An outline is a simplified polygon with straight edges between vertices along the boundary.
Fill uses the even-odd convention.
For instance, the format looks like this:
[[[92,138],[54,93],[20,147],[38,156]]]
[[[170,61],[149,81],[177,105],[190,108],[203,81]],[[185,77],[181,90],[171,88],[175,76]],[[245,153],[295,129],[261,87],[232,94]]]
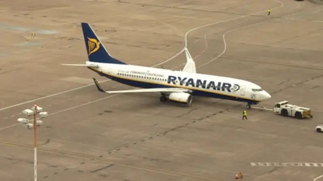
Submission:
[[[251,105],[270,99],[270,95],[255,83],[223,76],[137,65],[86,62],[98,67],[88,67],[101,76],[117,82],[141,88],[186,88],[194,96],[205,96],[232,101],[247,102]]]

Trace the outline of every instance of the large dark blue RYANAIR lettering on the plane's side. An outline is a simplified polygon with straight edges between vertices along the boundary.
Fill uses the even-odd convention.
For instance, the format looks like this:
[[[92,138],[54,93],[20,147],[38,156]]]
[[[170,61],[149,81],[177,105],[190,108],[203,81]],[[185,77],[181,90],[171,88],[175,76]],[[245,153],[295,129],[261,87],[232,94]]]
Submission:
[[[231,83],[226,83],[226,82],[216,83],[214,81],[207,82],[207,80],[201,80],[201,79],[195,80],[193,78],[173,76],[173,75],[169,75],[167,79],[167,83],[172,83],[174,85],[184,85],[184,82],[185,82],[185,86],[213,89],[216,91],[227,91],[229,93],[231,92],[231,87],[232,87]],[[234,92],[238,91],[239,89],[240,89],[240,86],[238,84],[234,84]]]

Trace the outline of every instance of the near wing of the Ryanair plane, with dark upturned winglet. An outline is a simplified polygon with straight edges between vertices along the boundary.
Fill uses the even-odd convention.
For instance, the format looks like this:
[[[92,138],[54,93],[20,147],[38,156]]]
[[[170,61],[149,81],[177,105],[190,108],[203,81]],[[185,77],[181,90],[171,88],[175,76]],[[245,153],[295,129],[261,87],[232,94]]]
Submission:
[[[93,78],[94,83],[97,89],[103,93],[191,93],[192,91],[186,88],[141,88],[141,89],[132,89],[132,90],[124,90],[124,91],[104,91],[101,85],[97,82],[95,78]]]

